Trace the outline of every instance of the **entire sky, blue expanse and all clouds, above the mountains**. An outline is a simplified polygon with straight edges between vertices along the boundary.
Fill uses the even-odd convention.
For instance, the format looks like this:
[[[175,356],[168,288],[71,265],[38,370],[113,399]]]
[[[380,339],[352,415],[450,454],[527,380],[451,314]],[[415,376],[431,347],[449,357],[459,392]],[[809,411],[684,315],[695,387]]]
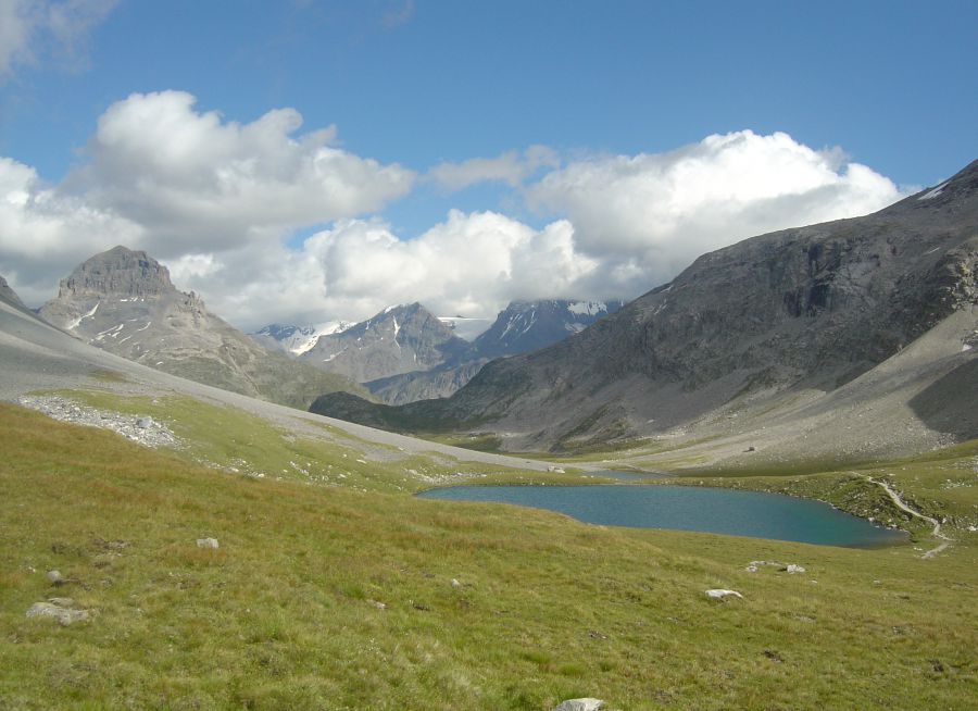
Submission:
[[[246,330],[631,299],[976,116],[976,0],[0,0],[0,275],[122,244]]]

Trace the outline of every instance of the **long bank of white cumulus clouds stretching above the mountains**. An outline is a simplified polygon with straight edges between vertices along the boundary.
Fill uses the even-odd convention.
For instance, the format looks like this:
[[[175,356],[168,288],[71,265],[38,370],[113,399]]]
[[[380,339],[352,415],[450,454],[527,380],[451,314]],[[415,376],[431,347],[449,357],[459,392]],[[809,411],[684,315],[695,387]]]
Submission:
[[[0,159],[0,273],[28,303],[52,296],[78,262],[125,244],[246,329],[360,320],[411,301],[491,316],[513,299],[634,298],[704,251],[901,197],[841,151],[785,134],[585,158],[539,178],[554,157],[535,148],[446,164],[428,178],[455,189],[503,180],[550,213],[549,224],[453,210],[405,239],[369,215],[409,191],[413,172],[335,148],[331,127],[298,134],[290,109],[237,124],[193,105],[175,91],[114,104],[88,162],[58,186]],[[289,246],[297,227],[315,225],[327,228]]]

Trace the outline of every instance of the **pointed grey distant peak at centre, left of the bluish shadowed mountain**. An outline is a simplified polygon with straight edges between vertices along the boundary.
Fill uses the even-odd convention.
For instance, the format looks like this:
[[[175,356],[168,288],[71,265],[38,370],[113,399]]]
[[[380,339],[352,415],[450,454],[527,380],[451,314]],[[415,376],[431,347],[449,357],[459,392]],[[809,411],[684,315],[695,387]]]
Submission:
[[[342,333],[321,336],[300,357],[358,383],[455,363],[468,342],[419,303],[388,307]]]

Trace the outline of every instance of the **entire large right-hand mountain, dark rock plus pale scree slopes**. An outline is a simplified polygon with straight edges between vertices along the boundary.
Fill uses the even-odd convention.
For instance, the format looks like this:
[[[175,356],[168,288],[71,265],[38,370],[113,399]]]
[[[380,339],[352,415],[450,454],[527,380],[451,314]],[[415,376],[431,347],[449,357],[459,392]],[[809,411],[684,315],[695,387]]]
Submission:
[[[337,394],[312,409],[491,432],[524,450],[749,433],[751,451],[919,451],[978,437],[976,278],[978,161],[875,214],[704,254],[581,333],[489,363],[446,400],[389,408]]]

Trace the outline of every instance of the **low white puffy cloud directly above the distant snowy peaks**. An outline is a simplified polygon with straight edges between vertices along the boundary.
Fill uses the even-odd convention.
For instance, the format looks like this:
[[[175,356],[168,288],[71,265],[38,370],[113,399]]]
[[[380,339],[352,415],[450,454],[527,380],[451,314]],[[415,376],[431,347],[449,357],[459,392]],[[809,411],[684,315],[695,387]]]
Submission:
[[[255,246],[221,259],[231,261],[203,271],[212,262],[200,255],[171,263],[174,282],[246,328],[283,314],[300,323],[362,320],[413,301],[440,315],[492,316],[512,299],[576,296],[597,267],[576,253],[566,221],[536,230],[498,213],[454,210],[411,240],[378,220],[343,220],[299,250]]]

